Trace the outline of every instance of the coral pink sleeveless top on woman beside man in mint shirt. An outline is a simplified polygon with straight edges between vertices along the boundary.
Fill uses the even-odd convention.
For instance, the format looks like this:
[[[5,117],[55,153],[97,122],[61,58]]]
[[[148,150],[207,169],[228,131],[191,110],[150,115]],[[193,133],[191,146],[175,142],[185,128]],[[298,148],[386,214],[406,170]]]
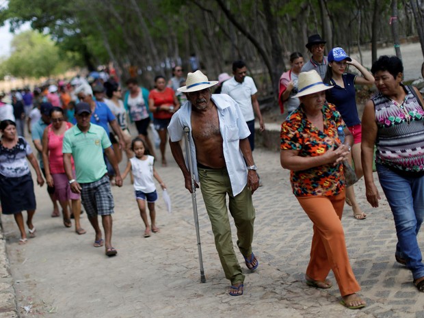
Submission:
[[[70,129],[72,125],[70,122],[66,122],[66,130]],[[51,124],[47,127],[48,133],[47,138],[49,139],[49,167],[51,174],[65,173],[64,168],[64,154],[62,153],[62,146],[64,143],[64,135],[56,135],[51,129]],[[72,170],[75,170],[74,159],[70,157],[70,163],[72,164]]]

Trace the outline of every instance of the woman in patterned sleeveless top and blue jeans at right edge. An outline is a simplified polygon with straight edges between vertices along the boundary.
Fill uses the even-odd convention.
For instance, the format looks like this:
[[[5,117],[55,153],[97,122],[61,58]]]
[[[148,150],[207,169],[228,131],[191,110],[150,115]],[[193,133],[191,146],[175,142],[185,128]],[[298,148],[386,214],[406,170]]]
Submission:
[[[416,88],[401,83],[398,57],[381,56],[371,72],[378,93],[365,105],[361,145],[367,200],[378,207],[375,146],[375,168],[395,220],[395,259],[412,271],[416,288],[424,291],[424,263],[416,239],[424,220],[424,101]]]

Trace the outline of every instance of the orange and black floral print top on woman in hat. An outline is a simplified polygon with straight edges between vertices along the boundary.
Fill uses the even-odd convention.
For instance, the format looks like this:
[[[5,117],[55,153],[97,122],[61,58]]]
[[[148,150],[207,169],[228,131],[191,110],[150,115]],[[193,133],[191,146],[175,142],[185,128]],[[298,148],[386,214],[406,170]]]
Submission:
[[[299,150],[300,157],[317,157],[340,143],[337,127],[345,127],[339,111],[332,104],[322,109],[323,131],[310,123],[300,105],[281,124],[281,145],[284,150]],[[302,171],[291,171],[291,187],[295,196],[335,196],[345,188],[343,164],[327,164]]]

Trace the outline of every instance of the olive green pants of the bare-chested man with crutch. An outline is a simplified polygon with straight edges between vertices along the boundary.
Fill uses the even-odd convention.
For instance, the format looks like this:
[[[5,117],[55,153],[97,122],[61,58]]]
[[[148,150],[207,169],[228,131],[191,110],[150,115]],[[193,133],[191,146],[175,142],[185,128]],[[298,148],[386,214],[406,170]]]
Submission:
[[[255,217],[252,193],[248,187],[245,187],[240,194],[233,196],[230,177],[226,169],[198,168],[198,174],[200,190],[209,220],[211,220],[215,247],[220,256],[225,277],[231,281],[231,284],[243,282],[244,275],[233,248],[226,195],[228,194],[228,207],[237,228],[237,246],[243,256],[250,256]]]

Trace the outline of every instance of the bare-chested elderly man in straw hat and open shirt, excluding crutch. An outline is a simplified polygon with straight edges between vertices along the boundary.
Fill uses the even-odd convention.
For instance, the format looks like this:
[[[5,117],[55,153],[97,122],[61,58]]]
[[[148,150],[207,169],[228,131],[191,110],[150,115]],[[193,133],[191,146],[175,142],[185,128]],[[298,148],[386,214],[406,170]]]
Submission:
[[[192,193],[198,187],[211,220],[215,246],[225,276],[231,281],[230,295],[243,295],[245,276],[233,248],[228,206],[237,228],[237,246],[246,266],[254,271],[259,261],[252,252],[255,211],[252,194],[259,186],[252,151],[250,131],[237,103],[226,94],[211,94],[217,81],[197,70],[187,75],[187,85],[178,90],[187,95],[185,103],[172,116],[168,127],[172,155],[183,172],[185,187]],[[187,128],[188,131],[187,131]],[[193,170],[189,171],[180,140],[189,133]],[[192,183],[192,176],[196,181]],[[199,242],[198,242],[199,243]]]

